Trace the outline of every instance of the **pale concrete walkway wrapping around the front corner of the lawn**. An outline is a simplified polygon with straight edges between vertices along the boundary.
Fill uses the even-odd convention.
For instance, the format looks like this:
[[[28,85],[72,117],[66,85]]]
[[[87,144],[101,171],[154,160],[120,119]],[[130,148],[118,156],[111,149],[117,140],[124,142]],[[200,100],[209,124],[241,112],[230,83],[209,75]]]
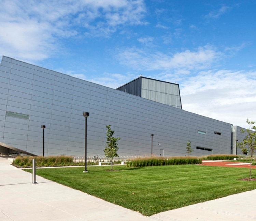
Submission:
[[[32,174],[10,163],[0,157],[1,221],[256,221],[256,190],[145,217],[40,176],[31,184]]]

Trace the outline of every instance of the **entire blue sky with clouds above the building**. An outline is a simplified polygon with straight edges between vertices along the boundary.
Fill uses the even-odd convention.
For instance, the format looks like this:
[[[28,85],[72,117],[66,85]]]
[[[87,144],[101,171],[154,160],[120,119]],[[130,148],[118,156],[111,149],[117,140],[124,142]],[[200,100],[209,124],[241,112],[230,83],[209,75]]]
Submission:
[[[0,0],[0,54],[117,88],[180,84],[183,109],[256,120],[255,1]]]

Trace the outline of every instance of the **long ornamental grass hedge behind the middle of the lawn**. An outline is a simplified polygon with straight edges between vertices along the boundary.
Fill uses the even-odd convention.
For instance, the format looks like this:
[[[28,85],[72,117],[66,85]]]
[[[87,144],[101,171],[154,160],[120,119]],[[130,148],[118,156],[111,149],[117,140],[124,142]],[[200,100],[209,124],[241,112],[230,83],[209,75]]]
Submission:
[[[181,164],[201,164],[202,160],[196,157],[172,157],[172,158],[138,158],[126,163],[127,167],[147,167]]]

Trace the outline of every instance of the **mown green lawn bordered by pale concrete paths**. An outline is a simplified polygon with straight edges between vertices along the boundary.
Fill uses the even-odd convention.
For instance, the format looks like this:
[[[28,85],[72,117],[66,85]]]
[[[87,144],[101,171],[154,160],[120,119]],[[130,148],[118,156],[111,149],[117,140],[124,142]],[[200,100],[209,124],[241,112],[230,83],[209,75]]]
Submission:
[[[247,168],[173,165],[37,169],[37,175],[145,216],[256,189]],[[31,169],[25,171],[32,172]],[[256,178],[256,170],[252,171]],[[134,194],[133,194],[134,193]]]

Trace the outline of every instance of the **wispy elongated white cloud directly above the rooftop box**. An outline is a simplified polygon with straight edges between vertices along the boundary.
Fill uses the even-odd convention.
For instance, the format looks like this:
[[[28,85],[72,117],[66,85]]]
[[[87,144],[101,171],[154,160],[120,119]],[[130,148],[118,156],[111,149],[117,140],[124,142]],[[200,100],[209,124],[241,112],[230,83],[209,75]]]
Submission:
[[[222,56],[211,46],[198,47],[195,51],[185,50],[174,55],[144,51],[136,47],[120,51],[116,58],[121,64],[139,70],[199,70],[211,66]]]

